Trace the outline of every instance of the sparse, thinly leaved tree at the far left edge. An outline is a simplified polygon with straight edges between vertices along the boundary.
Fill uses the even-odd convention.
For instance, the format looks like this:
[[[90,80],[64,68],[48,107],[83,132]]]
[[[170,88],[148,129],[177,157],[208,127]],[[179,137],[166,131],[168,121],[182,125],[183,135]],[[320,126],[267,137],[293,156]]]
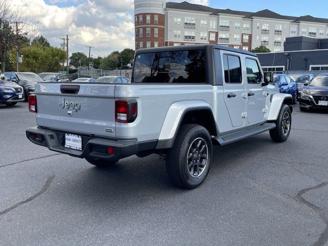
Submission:
[[[31,25],[32,20],[13,10],[8,0],[0,1],[0,61],[1,70],[6,69],[8,52],[30,44],[38,27]],[[17,24],[16,24],[17,23]],[[28,28],[27,28],[28,26]],[[16,60],[16,57],[14,58]]]

